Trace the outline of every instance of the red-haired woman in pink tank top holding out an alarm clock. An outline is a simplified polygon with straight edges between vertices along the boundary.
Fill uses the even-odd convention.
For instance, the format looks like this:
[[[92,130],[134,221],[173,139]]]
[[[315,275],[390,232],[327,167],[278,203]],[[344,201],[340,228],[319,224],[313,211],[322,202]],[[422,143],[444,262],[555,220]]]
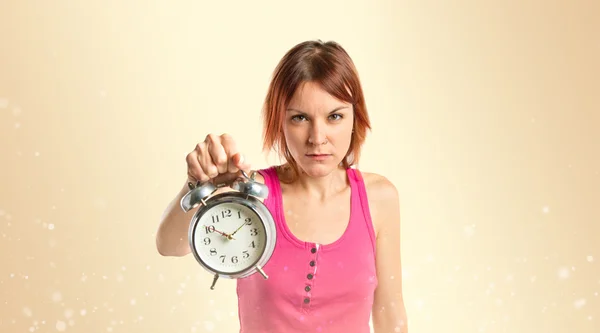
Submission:
[[[237,280],[240,331],[408,332],[402,298],[398,193],[356,168],[370,129],[351,58],[335,42],[307,41],[277,66],[263,110],[264,146],[286,163],[257,170],[277,245],[259,274]],[[250,165],[234,139],[209,134],[187,155],[189,181],[228,182]],[[157,233],[165,256],[190,253],[184,185]]]

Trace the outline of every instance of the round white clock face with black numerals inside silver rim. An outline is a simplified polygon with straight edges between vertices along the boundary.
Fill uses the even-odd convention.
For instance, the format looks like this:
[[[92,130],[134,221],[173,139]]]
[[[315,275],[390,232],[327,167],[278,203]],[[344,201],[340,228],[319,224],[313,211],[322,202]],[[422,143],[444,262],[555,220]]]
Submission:
[[[204,212],[192,237],[200,260],[222,274],[254,266],[266,245],[265,227],[258,214],[235,202],[221,203]]]

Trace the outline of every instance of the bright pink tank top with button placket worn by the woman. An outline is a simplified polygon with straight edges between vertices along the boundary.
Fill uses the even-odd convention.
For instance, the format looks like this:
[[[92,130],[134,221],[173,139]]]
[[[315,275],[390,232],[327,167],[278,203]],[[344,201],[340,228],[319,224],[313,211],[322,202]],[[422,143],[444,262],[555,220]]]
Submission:
[[[240,333],[367,333],[377,286],[375,232],[365,185],[349,168],[350,221],[330,244],[296,238],[288,228],[275,167],[259,171],[269,187],[265,205],[277,243],[260,274],[237,280]],[[322,221],[327,223],[327,221]]]

